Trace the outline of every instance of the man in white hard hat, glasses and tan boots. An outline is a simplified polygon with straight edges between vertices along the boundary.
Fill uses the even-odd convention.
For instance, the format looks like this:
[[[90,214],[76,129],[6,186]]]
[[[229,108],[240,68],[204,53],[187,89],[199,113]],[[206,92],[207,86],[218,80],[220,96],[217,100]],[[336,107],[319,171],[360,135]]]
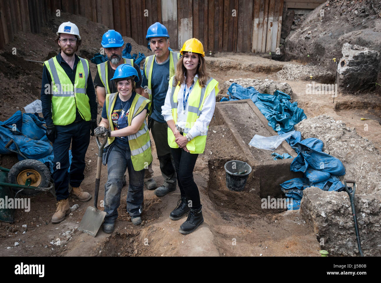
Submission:
[[[97,127],[97,105],[89,63],[75,54],[81,44],[78,27],[70,22],[62,23],[56,43],[61,52],[44,62],[41,88],[46,136],[53,144],[53,179],[58,200],[52,223],[61,222],[70,213],[69,183],[73,197],[80,201],[91,199],[80,185],[85,177],[83,171],[90,130],[94,135]],[[67,172],[69,166],[70,174]]]

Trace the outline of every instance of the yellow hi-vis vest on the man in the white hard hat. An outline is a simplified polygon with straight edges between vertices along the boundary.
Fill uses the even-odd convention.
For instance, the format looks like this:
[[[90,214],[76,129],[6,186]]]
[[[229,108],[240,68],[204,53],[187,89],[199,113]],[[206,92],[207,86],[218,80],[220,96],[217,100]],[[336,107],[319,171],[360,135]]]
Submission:
[[[75,121],[75,108],[85,121],[91,120],[89,97],[86,95],[89,63],[79,58],[74,86],[56,57],[44,64],[51,77],[51,112],[54,125],[69,125]]]

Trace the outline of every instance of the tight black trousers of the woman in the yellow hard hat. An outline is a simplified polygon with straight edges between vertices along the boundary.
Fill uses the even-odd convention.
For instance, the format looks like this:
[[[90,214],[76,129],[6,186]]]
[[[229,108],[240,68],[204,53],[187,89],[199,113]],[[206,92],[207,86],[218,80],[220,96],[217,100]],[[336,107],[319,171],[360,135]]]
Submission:
[[[192,201],[192,209],[201,207],[199,188],[193,179],[193,169],[199,154],[189,153],[181,148],[171,148],[177,182],[182,197]]]

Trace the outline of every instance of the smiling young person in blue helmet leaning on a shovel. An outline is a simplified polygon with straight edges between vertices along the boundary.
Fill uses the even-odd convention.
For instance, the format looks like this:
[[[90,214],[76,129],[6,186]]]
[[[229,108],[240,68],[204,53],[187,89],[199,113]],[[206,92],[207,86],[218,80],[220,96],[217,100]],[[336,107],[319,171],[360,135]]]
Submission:
[[[129,176],[127,212],[133,224],[142,222],[144,171],[152,162],[146,123],[149,100],[135,92],[138,72],[128,64],[122,64],[111,80],[114,80],[118,91],[106,95],[102,121],[94,131],[98,137],[108,137],[107,153],[104,154],[108,174],[104,185],[105,233],[114,231],[126,169]]]

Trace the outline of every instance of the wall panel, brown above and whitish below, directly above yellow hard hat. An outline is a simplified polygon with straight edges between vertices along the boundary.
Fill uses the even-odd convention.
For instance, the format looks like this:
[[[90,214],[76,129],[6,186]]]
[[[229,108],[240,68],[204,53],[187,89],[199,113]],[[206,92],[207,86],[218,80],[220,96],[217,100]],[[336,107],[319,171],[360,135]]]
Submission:
[[[192,0],[177,1],[178,18],[178,46],[182,47],[186,40],[191,39],[192,34]]]

